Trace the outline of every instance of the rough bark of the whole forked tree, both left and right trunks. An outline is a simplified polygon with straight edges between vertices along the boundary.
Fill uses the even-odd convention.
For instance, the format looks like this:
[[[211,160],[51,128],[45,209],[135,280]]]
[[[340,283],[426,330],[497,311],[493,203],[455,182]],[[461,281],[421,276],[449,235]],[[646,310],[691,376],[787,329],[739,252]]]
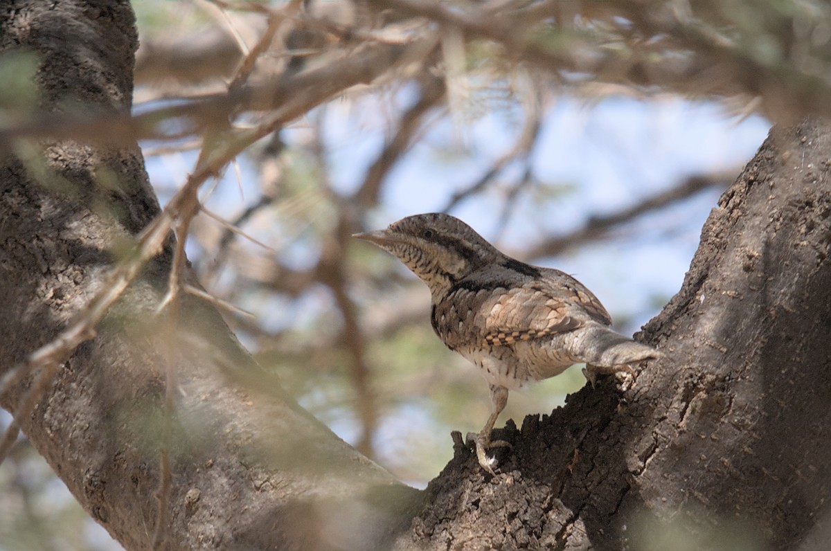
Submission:
[[[133,25],[127,2],[2,2],[0,48],[40,54],[43,109],[71,99],[124,111]],[[666,361],[627,390],[607,379],[521,430],[509,423],[499,438],[514,448],[493,478],[460,447],[425,492],[406,489],[282,396],[194,298],[179,331],[160,334],[172,241],[17,421],[127,549],[149,548],[160,518],[170,339],[182,390],[168,549],[626,549],[661,523],[704,544],[745,529],[772,549],[819,547],[831,485],[829,145],[825,123],[774,130],[641,334]],[[0,160],[0,376],[66,326],[113,245],[159,212],[137,147],[42,146],[60,186],[10,150]],[[31,384],[2,406],[15,411]]]

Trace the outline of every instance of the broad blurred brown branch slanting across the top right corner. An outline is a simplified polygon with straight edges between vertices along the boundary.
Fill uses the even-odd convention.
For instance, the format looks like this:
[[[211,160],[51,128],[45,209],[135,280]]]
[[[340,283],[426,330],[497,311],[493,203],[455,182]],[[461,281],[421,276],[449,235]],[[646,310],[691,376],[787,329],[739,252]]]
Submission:
[[[714,19],[711,13],[721,10],[708,10],[708,2],[702,3],[694,17],[683,17],[679,10],[660,2],[654,9],[645,9],[622,0],[548,0],[529,10],[494,10],[470,3],[450,8],[443,2],[424,0],[376,0],[369,5],[458,28],[467,40],[495,42],[506,57],[562,76],[573,86],[607,81],[643,89],[660,86],[687,96],[761,96],[765,115],[784,120],[829,114],[825,98],[831,93],[831,83],[824,77],[828,71],[804,71],[784,57],[756,55],[745,43],[716,33],[715,28],[733,27],[735,22],[718,17],[708,22]],[[563,17],[563,5],[568,6],[570,17]],[[580,27],[572,23],[578,15],[583,16]],[[781,27],[790,27],[799,14],[771,11],[767,15]],[[831,16],[827,11],[821,15],[823,20],[814,24],[827,27]],[[597,22],[592,21],[594,17]],[[552,47],[545,40],[549,36],[558,37],[561,43],[568,38],[571,46]],[[606,47],[610,42],[625,47]],[[821,53],[813,59],[818,66],[829,66]]]

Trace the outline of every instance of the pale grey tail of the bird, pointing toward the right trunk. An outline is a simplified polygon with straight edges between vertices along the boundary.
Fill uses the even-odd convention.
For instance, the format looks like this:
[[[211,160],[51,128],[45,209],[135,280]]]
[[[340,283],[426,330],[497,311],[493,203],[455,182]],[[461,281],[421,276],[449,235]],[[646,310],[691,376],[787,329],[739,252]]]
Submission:
[[[655,348],[623,337],[599,323],[583,327],[578,332],[581,334],[574,343],[578,345],[575,347],[576,356],[595,367],[614,368],[663,357]]]

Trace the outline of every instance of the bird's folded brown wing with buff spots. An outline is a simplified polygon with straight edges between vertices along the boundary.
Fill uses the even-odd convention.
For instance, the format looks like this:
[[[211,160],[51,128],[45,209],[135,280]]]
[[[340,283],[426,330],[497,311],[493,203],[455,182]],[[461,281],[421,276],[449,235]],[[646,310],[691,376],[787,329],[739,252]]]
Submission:
[[[606,308],[582,283],[557,270],[543,275],[510,288],[484,307],[485,342],[510,345],[573,331],[590,320],[612,323]]]

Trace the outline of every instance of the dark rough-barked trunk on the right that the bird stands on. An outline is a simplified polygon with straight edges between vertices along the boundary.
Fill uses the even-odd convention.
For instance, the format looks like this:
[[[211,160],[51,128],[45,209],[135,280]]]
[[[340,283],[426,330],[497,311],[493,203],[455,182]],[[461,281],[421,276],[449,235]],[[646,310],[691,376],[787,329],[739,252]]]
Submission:
[[[641,337],[668,357],[460,449],[413,524],[430,549],[827,549],[831,127],[773,130]],[[819,519],[825,519],[820,521]],[[671,534],[669,540],[661,537]],[[826,539],[824,539],[826,538]]]

